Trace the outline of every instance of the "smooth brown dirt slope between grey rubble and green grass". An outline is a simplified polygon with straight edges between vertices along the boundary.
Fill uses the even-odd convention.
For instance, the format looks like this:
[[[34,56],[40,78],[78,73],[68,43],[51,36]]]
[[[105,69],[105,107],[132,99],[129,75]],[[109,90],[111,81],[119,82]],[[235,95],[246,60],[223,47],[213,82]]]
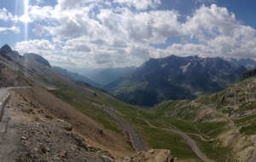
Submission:
[[[88,145],[108,150],[117,159],[120,156],[132,154],[133,150],[123,136],[105,129],[101,124],[74,110],[47,90],[35,87],[15,91],[28,102],[27,104],[32,104],[32,109],[43,108],[45,112],[50,113],[50,116],[67,121],[73,126],[75,132],[84,137]]]

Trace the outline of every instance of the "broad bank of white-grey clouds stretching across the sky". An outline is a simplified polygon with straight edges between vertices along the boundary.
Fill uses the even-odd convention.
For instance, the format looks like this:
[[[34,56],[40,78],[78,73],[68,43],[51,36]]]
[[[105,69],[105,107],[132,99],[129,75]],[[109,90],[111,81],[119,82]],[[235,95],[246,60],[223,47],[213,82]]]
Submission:
[[[157,10],[159,5],[160,0],[58,0],[55,6],[30,6],[32,32],[42,39],[16,43],[15,49],[90,67],[139,66],[167,55],[255,57],[255,29],[228,9],[202,5],[181,21],[177,10]],[[0,10],[0,20],[12,17]],[[180,42],[170,43],[172,38]],[[167,47],[151,45],[161,43]]]

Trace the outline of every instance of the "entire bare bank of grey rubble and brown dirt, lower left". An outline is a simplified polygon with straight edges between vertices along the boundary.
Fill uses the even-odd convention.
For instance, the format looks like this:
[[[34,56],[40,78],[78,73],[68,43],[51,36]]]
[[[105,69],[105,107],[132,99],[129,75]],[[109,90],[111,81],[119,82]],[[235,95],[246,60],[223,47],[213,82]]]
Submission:
[[[0,123],[0,161],[119,161],[134,153],[123,136],[116,138],[47,90],[10,91]]]

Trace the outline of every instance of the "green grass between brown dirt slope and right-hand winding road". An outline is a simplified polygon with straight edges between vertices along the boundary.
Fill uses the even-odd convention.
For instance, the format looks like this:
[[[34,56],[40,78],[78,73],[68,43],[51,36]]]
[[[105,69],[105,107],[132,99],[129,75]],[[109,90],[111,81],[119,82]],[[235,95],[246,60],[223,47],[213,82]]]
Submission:
[[[179,159],[200,160],[181,136],[165,130],[152,128],[148,125],[146,123],[147,120],[153,121],[153,123],[158,123],[158,118],[155,118],[153,114],[148,113],[147,109],[119,101],[113,96],[106,94],[104,91],[97,89],[88,92],[82,89],[78,90],[75,87],[67,87],[64,84],[58,84],[58,90],[55,90],[52,93],[61,100],[67,101],[67,103],[71,104],[79,110],[79,112],[84,113],[91,119],[102,124],[104,128],[122,134],[119,124],[109,117],[108,114],[104,113],[97,105],[113,107],[119,115],[119,118],[130,124],[142,137],[145,148],[171,149],[172,153]],[[165,123],[165,121],[161,122]]]

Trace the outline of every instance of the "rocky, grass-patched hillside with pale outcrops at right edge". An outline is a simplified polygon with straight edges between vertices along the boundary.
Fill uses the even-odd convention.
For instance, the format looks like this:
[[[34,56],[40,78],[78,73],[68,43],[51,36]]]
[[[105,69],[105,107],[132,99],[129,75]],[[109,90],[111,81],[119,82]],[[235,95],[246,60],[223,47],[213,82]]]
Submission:
[[[186,132],[212,159],[249,160],[256,135],[256,78],[193,101],[165,101],[149,113]]]

